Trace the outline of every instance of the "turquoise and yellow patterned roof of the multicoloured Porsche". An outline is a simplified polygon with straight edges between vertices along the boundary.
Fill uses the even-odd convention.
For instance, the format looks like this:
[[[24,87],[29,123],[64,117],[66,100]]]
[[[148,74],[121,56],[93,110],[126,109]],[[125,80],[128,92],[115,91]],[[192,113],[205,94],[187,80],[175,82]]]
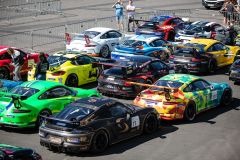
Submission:
[[[169,74],[162,77],[160,80],[171,80],[182,83],[191,83],[194,80],[202,79],[198,76],[188,75],[188,74]]]

